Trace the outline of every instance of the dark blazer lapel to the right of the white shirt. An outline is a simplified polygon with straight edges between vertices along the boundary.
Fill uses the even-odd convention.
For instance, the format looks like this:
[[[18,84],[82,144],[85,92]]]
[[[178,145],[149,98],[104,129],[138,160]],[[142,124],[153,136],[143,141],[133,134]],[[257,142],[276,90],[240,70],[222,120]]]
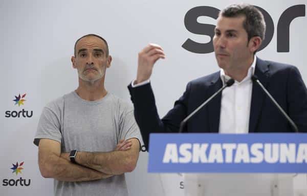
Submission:
[[[257,58],[255,73],[254,73],[260,83],[267,88],[269,79],[269,63]],[[253,83],[252,88],[252,99],[251,99],[251,110],[250,110],[250,120],[249,120],[249,132],[257,132],[257,125],[259,117],[261,115],[262,104],[264,103],[266,94],[262,91],[261,87]]]

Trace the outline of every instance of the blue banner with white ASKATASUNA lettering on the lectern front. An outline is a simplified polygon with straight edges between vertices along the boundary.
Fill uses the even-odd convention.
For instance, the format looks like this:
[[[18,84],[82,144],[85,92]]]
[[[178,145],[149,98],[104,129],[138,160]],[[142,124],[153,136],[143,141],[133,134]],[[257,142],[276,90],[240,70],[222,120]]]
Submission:
[[[148,172],[307,173],[306,133],[150,134]]]

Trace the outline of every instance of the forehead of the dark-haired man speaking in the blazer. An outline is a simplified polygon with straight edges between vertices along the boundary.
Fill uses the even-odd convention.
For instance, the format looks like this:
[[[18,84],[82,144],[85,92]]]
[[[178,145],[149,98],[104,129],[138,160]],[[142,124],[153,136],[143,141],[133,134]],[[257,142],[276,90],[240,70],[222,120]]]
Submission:
[[[243,23],[246,19],[245,15],[238,15],[235,17],[225,17],[225,16],[218,16],[217,24],[215,29],[221,31],[228,31],[228,30],[244,30]]]

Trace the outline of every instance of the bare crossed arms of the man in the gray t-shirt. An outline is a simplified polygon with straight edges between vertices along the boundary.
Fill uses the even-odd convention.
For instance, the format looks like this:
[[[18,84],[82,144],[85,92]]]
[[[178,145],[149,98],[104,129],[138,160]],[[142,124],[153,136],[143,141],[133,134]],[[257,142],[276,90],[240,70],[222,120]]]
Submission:
[[[78,164],[73,164],[69,160],[69,153],[61,153],[59,142],[40,139],[38,165],[44,178],[68,182],[99,180],[133,171],[139,149],[138,139],[121,140],[111,152],[78,152]]]

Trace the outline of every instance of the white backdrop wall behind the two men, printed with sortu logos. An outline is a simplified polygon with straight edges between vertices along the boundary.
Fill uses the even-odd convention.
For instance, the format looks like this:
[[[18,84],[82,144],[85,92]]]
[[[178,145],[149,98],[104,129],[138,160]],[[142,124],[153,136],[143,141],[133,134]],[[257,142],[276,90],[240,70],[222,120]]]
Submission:
[[[157,62],[151,84],[160,116],[184,92],[188,81],[218,70],[213,53],[196,54],[182,48],[190,38],[210,41],[206,35],[189,32],[184,25],[188,10],[196,6],[223,9],[235,1],[2,1],[0,5],[0,97],[2,137],[0,142],[0,195],[53,195],[53,180],[40,176],[33,137],[42,107],[77,88],[77,72],[70,58],[74,43],[82,35],[103,36],[113,56],[106,72],[106,89],[129,100],[126,88],[136,76],[137,54],[148,43],[160,44],[166,59]],[[287,8],[306,5],[305,0],[246,1],[265,9],[275,27],[271,43],[257,55],[266,60],[297,66],[307,81],[307,18],[297,17],[290,26],[290,52],[277,52],[277,22]],[[215,19],[199,17],[199,23],[215,25]],[[295,90],[295,89],[294,89]],[[15,95],[25,94],[25,104],[14,105]],[[32,117],[5,117],[6,111],[33,111]],[[126,174],[130,195],[183,195],[178,174],[148,174],[147,152],[138,166]],[[12,164],[24,162],[21,174]],[[30,180],[29,186],[17,181]],[[7,179],[7,180],[6,180]],[[12,179],[12,180],[11,180]],[[5,181],[13,186],[5,186]]]

